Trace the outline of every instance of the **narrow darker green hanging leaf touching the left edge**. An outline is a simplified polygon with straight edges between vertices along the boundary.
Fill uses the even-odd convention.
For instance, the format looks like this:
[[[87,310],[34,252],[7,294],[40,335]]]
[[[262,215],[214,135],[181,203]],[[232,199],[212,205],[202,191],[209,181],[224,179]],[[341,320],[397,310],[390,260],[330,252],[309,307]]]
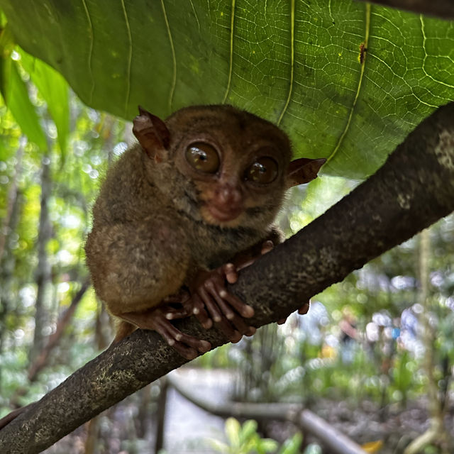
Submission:
[[[6,106],[28,140],[38,145],[41,150],[45,150],[48,146],[45,135],[40,126],[35,106],[28,97],[26,84],[18,72],[17,63],[10,57],[0,58],[0,72],[0,92]]]

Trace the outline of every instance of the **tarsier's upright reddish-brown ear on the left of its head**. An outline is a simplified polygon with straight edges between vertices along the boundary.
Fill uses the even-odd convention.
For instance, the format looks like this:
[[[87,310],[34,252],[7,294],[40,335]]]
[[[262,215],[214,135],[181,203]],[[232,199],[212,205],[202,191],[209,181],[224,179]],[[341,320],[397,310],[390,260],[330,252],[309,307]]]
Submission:
[[[159,117],[138,107],[139,114],[133,120],[133,133],[147,155],[159,161],[160,151],[169,148],[170,132]]]

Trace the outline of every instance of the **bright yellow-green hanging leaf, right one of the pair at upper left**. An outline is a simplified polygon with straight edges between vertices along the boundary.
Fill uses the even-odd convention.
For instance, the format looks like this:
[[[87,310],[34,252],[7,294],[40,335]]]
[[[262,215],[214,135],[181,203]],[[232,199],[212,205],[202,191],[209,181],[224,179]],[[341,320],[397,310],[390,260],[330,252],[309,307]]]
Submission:
[[[48,105],[49,113],[57,127],[60,150],[65,157],[67,138],[70,133],[68,84],[59,72],[23,51],[21,65],[30,74],[33,84]]]

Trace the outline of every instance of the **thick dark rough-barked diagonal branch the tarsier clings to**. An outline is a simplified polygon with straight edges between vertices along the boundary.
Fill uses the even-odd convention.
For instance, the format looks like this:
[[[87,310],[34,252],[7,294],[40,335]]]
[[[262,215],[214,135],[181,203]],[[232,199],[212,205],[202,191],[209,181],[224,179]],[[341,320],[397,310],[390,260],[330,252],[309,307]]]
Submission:
[[[372,145],[371,145],[372,146]],[[454,103],[426,118],[375,175],[230,287],[262,326],[454,210]],[[177,323],[214,347],[195,319]],[[135,331],[74,372],[0,431],[1,453],[39,453],[104,409],[187,362],[153,331]]]

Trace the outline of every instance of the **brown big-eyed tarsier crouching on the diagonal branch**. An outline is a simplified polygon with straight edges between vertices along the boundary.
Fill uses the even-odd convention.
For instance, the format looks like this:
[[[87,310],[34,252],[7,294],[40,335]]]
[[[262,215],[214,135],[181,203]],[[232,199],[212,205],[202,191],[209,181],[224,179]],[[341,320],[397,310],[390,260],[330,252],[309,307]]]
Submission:
[[[94,289],[120,341],[153,329],[184,358],[209,342],[172,319],[194,314],[231,341],[254,311],[226,290],[240,267],[280,240],[284,192],[314,179],[324,159],[291,160],[287,135],[232,106],[192,106],[162,121],[139,108],[138,143],[109,170],[85,250]],[[178,304],[175,304],[178,303]]]

